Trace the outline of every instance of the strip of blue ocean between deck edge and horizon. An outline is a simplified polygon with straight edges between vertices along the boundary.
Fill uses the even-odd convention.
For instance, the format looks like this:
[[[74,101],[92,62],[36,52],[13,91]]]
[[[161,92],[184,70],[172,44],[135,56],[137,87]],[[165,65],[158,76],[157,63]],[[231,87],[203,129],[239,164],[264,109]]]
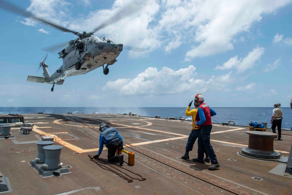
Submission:
[[[193,107],[191,107],[193,109]],[[267,122],[267,127],[270,125],[273,107],[212,107],[217,112],[217,115],[212,117],[212,121],[216,123],[228,122],[233,120],[236,125],[246,125],[251,121]],[[291,129],[292,127],[292,110],[290,107],[281,107],[283,110],[283,129]],[[29,113],[48,113],[48,114],[64,114],[64,113],[135,113],[140,116],[155,117],[156,115],[160,118],[166,117],[177,117],[184,116],[186,119],[189,118],[185,115],[186,107],[173,107],[173,108],[158,108],[158,107],[133,107],[133,108],[122,108],[122,107],[0,107],[0,114],[29,114]]]

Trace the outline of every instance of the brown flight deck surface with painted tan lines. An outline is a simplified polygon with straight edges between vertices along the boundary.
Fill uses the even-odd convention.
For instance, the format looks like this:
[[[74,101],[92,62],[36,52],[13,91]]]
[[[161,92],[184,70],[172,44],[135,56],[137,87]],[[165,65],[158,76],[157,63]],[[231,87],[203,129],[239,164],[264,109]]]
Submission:
[[[118,114],[26,114],[34,123],[29,135],[0,139],[0,172],[8,179],[7,194],[291,194],[292,175],[285,174],[286,164],[246,158],[238,152],[248,146],[248,130],[242,126],[213,124],[211,144],[220,163],[208,170],[210,163],[182,160],[191,122]],[[124,148],[135,153],[135,165],[121,166],[146,178],[128,183],[117,172],[141,177],[112,165],[118,170],[104,170],[90,161],[99,149],[99,125],[106,122],[118,129]],[[54,137],[62,145],[61,163],[70,173],[61,177],[42,177],[28,163],[37,157],[36,141],[41,136]],[[274,150],[289,156],[292,133],[282,131],[282,140],[274,140]],[[197,157],[197,141],[190,158]],[[107,151],[100,158],[107,160]],[[125,174],[124,174],[125,173]],[[1,184],[1,183],[0,183]]]

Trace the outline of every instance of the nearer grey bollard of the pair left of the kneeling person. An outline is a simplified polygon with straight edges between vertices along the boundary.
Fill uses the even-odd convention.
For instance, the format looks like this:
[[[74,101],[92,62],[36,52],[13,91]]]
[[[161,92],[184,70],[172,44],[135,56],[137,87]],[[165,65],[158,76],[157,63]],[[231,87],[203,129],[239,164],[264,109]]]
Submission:
[[[46,161],[45,164],[43,164],[44,169],[61,168],[62,163],[60,161],[60,155],[62,148],[63,146],[59,145],[44,146],[44,150],[46,153]]]

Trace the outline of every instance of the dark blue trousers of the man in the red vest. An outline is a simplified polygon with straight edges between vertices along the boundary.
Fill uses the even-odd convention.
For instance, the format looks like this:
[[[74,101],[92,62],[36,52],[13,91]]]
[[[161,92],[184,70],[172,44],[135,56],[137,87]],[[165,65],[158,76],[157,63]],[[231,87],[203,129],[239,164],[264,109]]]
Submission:
[[[198,159],[200,160],[204,159],[204,149],[206,149],[206,152],[210,158],[211,164],[217,164],[218,163],[217,157],[210,143],[211,130],[212,130],[212,125],[201,126],[201,131],[198,137]]]

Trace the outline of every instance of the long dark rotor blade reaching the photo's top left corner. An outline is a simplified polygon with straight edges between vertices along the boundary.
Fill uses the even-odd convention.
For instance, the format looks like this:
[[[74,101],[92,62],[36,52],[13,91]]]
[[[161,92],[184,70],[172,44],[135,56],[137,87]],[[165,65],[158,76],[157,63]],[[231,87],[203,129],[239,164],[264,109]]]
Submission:
[[[3,1],[3,0],[0,0],[0,7],[5,9],[5,10],[8,10],[8,11],[11,11],[11,12],[14,12],[14,13],[18,13],[18,14],[21,14],[21,15],[24,15],[26,17],[29,17],[29,18],[34,18],[36,20],[39,20],[43,23],[46,23],[48,25],[51,25],[59,30],[62,30],[64,32],[72,32],[72,33],[75,33],[75,31],[72,31],[72,30],[69,30],[69,29],[66,29],[64,27],[61,27],[59,25],[56,25],[54,23],[51,23],[51,22],[48,22],[47,20],[44,20],[42,18],[39,18],[37,16],[35,16],[34,14],[32,13],[29,13],[28,11],[25,11],[23,8],[20,8],[16,5],[13,5],[11,3],[8,3],[7,1]]]

